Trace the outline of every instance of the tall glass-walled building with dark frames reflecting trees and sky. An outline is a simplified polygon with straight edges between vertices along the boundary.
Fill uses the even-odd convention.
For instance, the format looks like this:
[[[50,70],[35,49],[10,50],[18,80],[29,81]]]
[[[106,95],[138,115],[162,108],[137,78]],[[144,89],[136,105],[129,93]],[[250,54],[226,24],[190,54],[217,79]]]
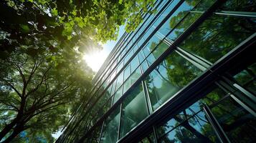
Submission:
[[[256,142],[256,1],[151,9],[115,45],[57,143]]]

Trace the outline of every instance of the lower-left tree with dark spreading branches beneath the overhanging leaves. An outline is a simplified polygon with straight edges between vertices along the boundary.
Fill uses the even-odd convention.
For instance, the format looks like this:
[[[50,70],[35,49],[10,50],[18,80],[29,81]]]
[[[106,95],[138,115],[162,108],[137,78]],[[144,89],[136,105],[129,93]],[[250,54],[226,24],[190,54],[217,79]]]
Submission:
[[[82,62],[66,60],[65,64],[71,66],[66,69],[44,56],[32,58],[16,51],[1,63],[0,139],[4,142],[24,130],[29,135],[56,131],[67,122],[70,105],[90,89],[90,74],[82,68],[73,71],[78,66],[86,69]],[[52,132],[42,135],[51,137]]]

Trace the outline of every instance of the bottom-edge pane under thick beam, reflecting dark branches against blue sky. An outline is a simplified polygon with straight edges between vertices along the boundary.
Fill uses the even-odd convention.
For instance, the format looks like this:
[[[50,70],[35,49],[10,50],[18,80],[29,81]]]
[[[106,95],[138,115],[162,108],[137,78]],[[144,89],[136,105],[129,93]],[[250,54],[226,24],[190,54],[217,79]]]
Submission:
[[[184,122],[172,122],[169,126],[173,128],[159,139],[160,142],[219,142],[204,112],[199,112]]]

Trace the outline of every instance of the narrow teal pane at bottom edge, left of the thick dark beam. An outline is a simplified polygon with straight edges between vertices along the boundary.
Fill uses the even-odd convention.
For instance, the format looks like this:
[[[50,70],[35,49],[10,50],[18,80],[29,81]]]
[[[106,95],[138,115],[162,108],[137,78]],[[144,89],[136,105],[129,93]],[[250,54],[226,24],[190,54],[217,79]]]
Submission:
[[[100,138],[101,143],[113,143],[118,140],[119,120],[120,107],[117,107],[115,111],[105,120],[103,133]]]

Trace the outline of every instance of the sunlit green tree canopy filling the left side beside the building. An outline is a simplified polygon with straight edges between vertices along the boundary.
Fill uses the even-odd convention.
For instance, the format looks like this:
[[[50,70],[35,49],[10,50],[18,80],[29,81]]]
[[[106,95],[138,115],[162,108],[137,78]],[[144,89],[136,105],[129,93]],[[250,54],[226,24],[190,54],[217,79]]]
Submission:
[[[99,42],[133,31],[153,0],[4,0],[0,3],[0,142],[53,142],[93,71],[82,60]]]

